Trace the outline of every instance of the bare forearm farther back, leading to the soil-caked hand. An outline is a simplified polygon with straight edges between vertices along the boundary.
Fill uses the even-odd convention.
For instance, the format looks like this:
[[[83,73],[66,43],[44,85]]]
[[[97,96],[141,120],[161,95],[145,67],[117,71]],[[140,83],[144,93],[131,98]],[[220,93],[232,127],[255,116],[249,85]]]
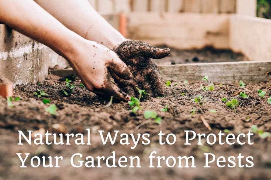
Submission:
[[[85,39],[102,43],[112,49],[126,39],[87,0],[35,0],[63,25]]]

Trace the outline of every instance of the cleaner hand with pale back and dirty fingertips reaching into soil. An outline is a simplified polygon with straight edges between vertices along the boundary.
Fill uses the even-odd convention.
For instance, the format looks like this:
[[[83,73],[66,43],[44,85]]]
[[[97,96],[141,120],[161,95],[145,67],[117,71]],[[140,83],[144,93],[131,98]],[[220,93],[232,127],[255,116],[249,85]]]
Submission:
[[[87,89],[102,98],[113,96],[118,101],[128,101],[130,96],[121,91],[108,78],[108,69],[124,79],[132,74],[118,55],[106,46],[86,41],[74,53],[69,62]]]

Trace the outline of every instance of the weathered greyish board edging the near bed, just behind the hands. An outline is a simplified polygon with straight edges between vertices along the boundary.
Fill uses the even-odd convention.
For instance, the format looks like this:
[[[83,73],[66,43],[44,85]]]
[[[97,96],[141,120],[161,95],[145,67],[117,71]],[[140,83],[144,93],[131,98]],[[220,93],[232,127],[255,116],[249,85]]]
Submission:
[[[224,63],[193,63],[158,66],[163,79],[175,82],[199,81],[204,76],[208,76],[212,82],[218,83],[238,83],[239,80],[245,82],[262,82],[270,79],[271,61],[244,61],[244,62],[224,62]],[[268,73],[269,72],[269,73]],[[50,70],[51,74],[66,77],[76,75],[69,69]]]

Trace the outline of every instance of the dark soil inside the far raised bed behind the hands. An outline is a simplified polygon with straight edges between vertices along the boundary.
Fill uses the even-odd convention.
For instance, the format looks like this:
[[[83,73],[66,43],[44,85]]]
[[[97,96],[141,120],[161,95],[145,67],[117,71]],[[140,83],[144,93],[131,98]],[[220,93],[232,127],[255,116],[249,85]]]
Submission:
[[[214,63],[247,61],[248,58],[242,53],[235,53],[229,49],[214,49],[206,47],[204,49],[179,50],[170,48],[170,55],[161,59],[154,60],[158,65],[182,64],[182,63]]]

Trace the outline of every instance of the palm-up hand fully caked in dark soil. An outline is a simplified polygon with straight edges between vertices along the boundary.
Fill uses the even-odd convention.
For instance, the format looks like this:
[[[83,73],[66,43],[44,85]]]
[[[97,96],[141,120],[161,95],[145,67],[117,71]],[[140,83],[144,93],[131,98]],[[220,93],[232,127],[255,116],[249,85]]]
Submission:
[[[115,82],[123,91],[130,96],[138,96],[136,89],[138,87],[153,97],[164,95],[163,79],[151,58],[164,58],[170,54],[170,49],[157,48],[144,41],[128,40],[114,48],[114,51],[133,74],[132,79],[125,80],[110,71]]]

